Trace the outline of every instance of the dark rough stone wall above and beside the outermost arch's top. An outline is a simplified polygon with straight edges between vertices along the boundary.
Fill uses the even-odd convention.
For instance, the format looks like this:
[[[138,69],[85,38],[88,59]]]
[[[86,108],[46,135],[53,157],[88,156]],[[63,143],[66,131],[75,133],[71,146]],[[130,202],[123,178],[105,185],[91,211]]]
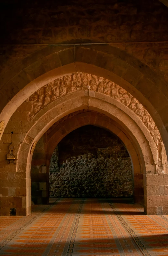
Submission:
[[[167,43],[129,44],[168,40],[168,9],[157,0],[6,1],[0,12],[1,43],[6,45],[0,47],[2,74],[45,47],[33,44],[118,42],[117,47],[168,79]]]

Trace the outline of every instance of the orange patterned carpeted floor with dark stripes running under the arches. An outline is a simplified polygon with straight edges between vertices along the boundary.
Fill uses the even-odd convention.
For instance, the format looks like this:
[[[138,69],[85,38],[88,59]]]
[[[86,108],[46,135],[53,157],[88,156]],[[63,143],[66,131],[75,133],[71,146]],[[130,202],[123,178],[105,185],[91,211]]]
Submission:
[[[51,198],[27,217],[0,217],[4,256],[168,256],[168,216],[105,198]]]

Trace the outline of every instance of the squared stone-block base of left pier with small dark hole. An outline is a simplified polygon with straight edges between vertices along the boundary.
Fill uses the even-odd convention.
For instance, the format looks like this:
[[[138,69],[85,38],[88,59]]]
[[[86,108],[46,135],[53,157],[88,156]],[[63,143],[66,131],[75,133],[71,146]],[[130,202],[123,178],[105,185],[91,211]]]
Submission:
[[[26,172],[0,172],[0,215],[25,216],[31,212],[30,175]]]

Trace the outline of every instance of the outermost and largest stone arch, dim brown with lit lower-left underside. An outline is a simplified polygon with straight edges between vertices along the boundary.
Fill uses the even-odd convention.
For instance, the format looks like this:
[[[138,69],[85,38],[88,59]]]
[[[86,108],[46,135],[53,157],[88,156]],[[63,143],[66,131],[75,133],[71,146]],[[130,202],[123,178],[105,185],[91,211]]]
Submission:
[[[33,63],[32,56],[28,58],[28,67],[24,66],[24,70],[18,74],[14,71],[15,76],[6,83],[2,96],[6,95],[6,90],[11,91],[13,83],[20,87],[16,87],[16,92],[7,98],[6,107],[4,105],[2,110],[1,118],[5,121],[5,126],[20,104],[37,89],[65,74],[85,72],[117,83],[140,101],[155,121],[167,151],[167,121],[163,116],[168,104],[167,87],[162,77],[116,47],[77,47],[75,52],[72,47],[58,47],[57,51],[55,48],[48,48],[46,51],[45,54],[43,51],[39,52]],[[162,107],[159,102],[162,102]]]

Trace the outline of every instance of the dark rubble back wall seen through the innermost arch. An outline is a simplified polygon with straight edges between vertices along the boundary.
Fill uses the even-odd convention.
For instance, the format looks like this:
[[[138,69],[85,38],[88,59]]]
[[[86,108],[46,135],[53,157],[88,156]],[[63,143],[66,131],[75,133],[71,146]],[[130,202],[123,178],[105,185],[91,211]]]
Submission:
[[[50,196],[130,197],[132,166],[120,139],[91,125],[68,134],[50,161]]]

